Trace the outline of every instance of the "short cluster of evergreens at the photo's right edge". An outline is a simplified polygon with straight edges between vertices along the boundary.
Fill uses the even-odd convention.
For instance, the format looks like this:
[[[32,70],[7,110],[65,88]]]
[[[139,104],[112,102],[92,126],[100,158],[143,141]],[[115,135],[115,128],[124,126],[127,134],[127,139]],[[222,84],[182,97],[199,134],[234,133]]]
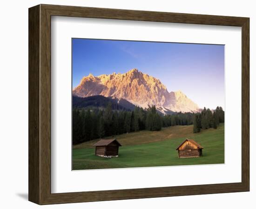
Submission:
[[[213,112],[210,109],[203,108],[201,113],[194,116],[194,133],[200,132],[201,129],[216,129],[220,123],[224,123],[224,111],[222,107],[217,107]]]

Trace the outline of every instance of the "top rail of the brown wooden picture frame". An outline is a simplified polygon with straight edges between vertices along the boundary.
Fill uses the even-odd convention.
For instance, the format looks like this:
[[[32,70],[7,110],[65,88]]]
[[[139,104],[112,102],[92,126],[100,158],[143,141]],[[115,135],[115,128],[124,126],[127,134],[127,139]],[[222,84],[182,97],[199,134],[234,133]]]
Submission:
[[[116,20],[140,20],[154,22],[189,23],[218,26],[243,26],[246,18],[187,13],[166,13],[126,9],[107,9],[95,7],[73,7],[60,5],[41,5],[51,15],[68,17],[87,17]]]

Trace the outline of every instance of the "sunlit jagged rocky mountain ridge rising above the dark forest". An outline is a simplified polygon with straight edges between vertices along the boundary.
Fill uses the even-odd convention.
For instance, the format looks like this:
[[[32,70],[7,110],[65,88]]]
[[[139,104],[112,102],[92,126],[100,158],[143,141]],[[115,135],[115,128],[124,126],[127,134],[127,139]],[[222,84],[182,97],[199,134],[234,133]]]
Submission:
[[[159,79],[137,69],[123,74],[114,72],[97,77],[90,73],[87,77],[83,77],[80,84],[74,88],[73,95],[82,98],[95,95],[123,98],[143,108],[147,108],[148,105],[155,105],[163,113],[168,111],[196,112],[199,110],[198,105],[182,91],[168,92],[166,86]]]

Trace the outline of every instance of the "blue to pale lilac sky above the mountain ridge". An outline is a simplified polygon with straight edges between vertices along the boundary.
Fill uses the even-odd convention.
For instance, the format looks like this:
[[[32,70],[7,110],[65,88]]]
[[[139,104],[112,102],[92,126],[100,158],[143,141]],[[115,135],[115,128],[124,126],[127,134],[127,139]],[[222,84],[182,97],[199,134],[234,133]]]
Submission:
[[[224,108],[224,46],[72,39],[73,88],[83,76],[137,68],[181,90],[199,107]]]

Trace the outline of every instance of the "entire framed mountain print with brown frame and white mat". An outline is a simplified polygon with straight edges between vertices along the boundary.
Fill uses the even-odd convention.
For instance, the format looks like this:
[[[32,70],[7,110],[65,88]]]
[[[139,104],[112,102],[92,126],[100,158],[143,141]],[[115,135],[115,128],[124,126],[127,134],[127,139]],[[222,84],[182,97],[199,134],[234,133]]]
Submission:
[[[29,201],[239,191],[249,18],[29,8]]]

